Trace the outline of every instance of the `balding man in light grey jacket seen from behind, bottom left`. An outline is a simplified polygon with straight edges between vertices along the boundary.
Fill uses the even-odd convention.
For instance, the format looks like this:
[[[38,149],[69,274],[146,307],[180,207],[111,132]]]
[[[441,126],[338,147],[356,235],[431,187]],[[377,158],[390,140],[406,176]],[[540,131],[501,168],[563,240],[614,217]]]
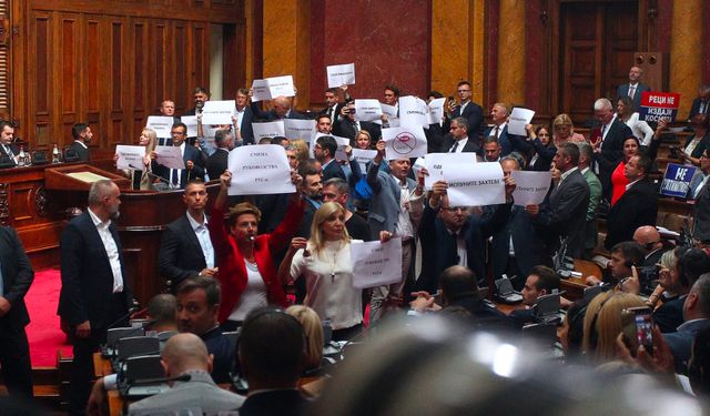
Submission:
[[[186,374],[190,379],[173,382],[168,392],[133,403],[129,406],[129,415],[190,407],[200,407],[210,415],[236,410],[244,403],[244,397],[214,384],[210,377],[212,355],[207,354],[206,346],[194,334],[178,334],[170,338],[161,353],[161,364],[165,377]]]

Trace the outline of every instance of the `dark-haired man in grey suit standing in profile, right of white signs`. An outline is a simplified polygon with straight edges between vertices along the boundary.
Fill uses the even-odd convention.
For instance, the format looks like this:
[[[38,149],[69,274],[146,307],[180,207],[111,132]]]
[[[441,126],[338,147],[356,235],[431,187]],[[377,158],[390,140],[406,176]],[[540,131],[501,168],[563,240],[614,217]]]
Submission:
[[[546,255],[550,257],[560,247],[567,246],[567,255],[581,258],[585,250],[585,225],[589,204],[589,185],[579,172],[579,148],[575,143],[562,143],[554,158],[555,166],[562,175],[547,194],[542,205],[528,205],[538,235],[545,239]]]

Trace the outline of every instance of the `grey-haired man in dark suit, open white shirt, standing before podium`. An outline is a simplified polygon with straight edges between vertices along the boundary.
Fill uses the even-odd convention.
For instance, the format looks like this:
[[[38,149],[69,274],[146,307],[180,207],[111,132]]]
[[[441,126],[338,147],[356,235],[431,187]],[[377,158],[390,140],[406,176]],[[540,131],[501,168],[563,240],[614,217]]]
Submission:
[[[106,329],[128,323],[133,296],[123,266],[121,241],[112,220],[121,191],[113,182],[94,182],[89,207],[69,222],[60,240],[62,288],[58,313],[74,337],[70,410],[83,414],[93,378],[92,355]]]

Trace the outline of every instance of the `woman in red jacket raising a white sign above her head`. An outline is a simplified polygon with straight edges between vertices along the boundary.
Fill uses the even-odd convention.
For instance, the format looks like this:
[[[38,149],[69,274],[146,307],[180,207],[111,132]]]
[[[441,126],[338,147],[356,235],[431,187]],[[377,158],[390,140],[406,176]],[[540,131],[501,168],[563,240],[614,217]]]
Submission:
[[[220,193],[212,209],[207,227],[217,257],[217,280],[222,284],[222,304],[219,321],[225,331],[241,325],[250,311],[276,304],[286,306],[286,295],[276,270],[272,253],[286,247],[296,233],[304,203],[301,200],[301,176],[292,173],[296,185],[284,220],[271,234],[257,235],[261,212],[248,202],[236,204],[226,211],[227,190],[232,173],[225,171],[220,176]]]

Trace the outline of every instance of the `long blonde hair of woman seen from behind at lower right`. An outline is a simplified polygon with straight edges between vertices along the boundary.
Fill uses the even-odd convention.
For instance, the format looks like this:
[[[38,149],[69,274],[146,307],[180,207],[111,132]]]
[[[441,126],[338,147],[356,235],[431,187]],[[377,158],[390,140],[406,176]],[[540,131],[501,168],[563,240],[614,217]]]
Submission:
[[[616,358],[621,311],[639,306],[646,306],[639,296],[623,292],[607,292],[589,303],[585,315],[582,349],[590,362],[604,364]]]

